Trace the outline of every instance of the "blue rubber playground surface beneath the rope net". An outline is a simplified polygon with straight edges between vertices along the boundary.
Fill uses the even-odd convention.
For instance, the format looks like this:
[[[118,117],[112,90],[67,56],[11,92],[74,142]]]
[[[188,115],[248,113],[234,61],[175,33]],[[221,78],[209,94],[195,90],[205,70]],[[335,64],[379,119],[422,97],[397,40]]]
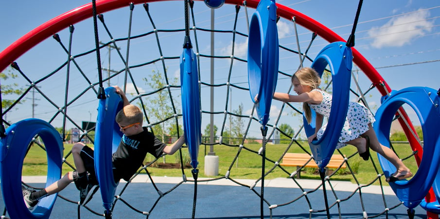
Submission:
[[[144,178],[146,179],[146,178]],[[288,201],[292,201],[293,198],[298,197],[301,193],[299,188],[282,187],[285,179],[270,180],[267,181],[267,185],[264,187],[264,198],[270,202],[270,204],[281,204]],[[38,183],[32,183],[35,181]],[[44,183],[40,183],[39,180],[32,180],[32,178],[23,179],[23,182],[29,183],[35,187],[43,187]],[[144,212],[150,212],[149,219],[190,219],[193,213],[193,198],[194,198],[194,183],[187,182],[178,186],[176,184],[181,181],[179,178],[160,178],[156,181],[156,186],[160,191],[166,193],[170,189],[174,188],[169,193],[166,193],[162,198],[159,198],[158,192],[156,192],[153,183],[147,181],[140,182],[137,180],[134,183],[130,183],[125,188],[121,196],[122,200],[128,203],[135,209],[141,209]],[[227,180],[224,180],[227,181]],[[309,180],[311,187],[313,180]],[[145,183],[147,182],[147,183]],[[169,182],[169,183],[162,183]],[[228,181],[230,182],[230,181]],[[319,183],[319,182],[318,182]],[[230,185],[231,183],[215,182],[197,183],[197,197],[196,197],[196,210],[195,218],[197,219],[258,219],[260,216],[260,197],[255,194],[251,189],[245,186]],[[266,183],[265,183],[266,184]],[[117,188],[116,194],[124,188],[125,183],[121,182]],[[259,184],[257,184],[258,186]],[[340,184],[334,183],[335,189],[350,187],[349,182],[341,182]],[[260,187],[255,187],[256,191],[260,191]],[[307,189],[306,189],[307,190]],[[373,189],[375,190],[375,189]],[[386,194],[389,192],[387,186],[384,187]],[[339,197],[348,197],[352,194],[352,191],[335,191]],[[332,196],[332,192],[328,190],[327,195]],[[79,200],[79,191],[72,183],[66,189],[59,193],[60,196],[72,200]],[[21,198],[21,197],[18,197]],[[317,192],[308,194],[308,199],[312,203],[312,207],[317,210],[325,209],[323,192],[318,190]],[[395,195],[385,195],[385,199],[391,208],[399,204],[399,200]],[[122,200],[118,200],[115,204],[113,211],[113,219],[142,219],[147,218],[141,212],[135,211]],[[330,200],[330,199],[329,199]],[[406,207],[399,205],[396,208],[390,209],[388,215],[381,214],[384,210],[384,203],[382,195],[370,193],[370,191],[362,192],[362,200],[360,201],[359,194],[354,194],[350,199],[340,202],[341,218],[344,219],[362,219],[362,203],[365,206],[365,211],[369,218],[378,219],[407,219]],[[155,204],[155,202],[157,203]],[[331,200],[329,201],[330,203]],[[103,218],[97,214],[104,213],[104,207],[102,206],[101,194],[98,191],[93,199],[86,205],[87,207],[78,208],[78,204],[66,201],[58,197],[55,201],[51,219],[59,218],[82,218],[82,219],[95,219]],[[153,207],[154,206],[154,207]],[[308,219],[309,204],[302,198],[295,201],[292,204],[279,206],[272,209],[272,215],[269,211],[268,205],[265,204],[264,218],[272,219]],[[1,209],[4,209],[4,202],[0,202]],[[153,210],[151,210],[153,208]],[[97,213],[93,213],[91,211]],[[79,213],[79,216],[78,216]],[[332,207],[330,210],[331,218],[339,218],[338,208]],[[377,216],[377,217],[376,217]],[[327,214],[323,212],[314,212],[311,216],[314,219],[326,219]],[[415,208],[415,219],[426,219],[426,211],[420,206]]]

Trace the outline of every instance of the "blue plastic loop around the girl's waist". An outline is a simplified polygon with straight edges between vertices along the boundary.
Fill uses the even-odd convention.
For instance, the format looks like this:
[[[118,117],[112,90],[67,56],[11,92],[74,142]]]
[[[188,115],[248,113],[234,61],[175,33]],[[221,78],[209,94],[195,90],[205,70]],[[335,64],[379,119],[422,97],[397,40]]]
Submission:
[[[324,168],[330,161],[336,148],[341,130],[347,117],[350,98],[350,76],[352,72],[352,49],[345,42],[333,42],[324,47],[312,63],[319,76],[322,76],[327,65],[330,66],[333,78],[333,101],[327,128],[319,140],[309,144],[315,162]],[[315,133],[315,111],[312,110],[312,122],[307,123],[303,116],[304,130],[307,136]]]

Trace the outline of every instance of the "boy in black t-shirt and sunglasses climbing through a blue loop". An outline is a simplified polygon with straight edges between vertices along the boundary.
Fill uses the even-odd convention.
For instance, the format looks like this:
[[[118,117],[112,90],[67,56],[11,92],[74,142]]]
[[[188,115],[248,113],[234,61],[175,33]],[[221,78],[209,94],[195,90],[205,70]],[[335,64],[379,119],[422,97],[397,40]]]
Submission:
[[[184,143],[182,135],[175,143],[167,146],[159,141],[147,128],[142,127],[143,113],[139,107],[131,105],[125,93],[118,86],[116,93],[123,99],[123,109],[116,115],[116,123],[123,132],[121,143],[112,155],[113,176],[115,182],[121,179],[129,181],[138,171],[147,153],[156,158],[162,153],[174,154]],[[98,190],[93,160],[93,149],[78,142],[72,146],[73,162],[76,171],[70,171],[57,182],[48,187],[35,191],[21,186],[26,206],[32,210],[38,200],[63,190],[72,181],[80,191],[80,204],[85,205]]]

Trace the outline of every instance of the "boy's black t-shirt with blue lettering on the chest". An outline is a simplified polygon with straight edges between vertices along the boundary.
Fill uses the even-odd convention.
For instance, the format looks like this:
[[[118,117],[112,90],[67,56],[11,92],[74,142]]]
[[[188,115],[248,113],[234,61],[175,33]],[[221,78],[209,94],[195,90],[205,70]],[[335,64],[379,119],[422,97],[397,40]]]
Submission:
[[[146,127],[136,135],[121,138],[118,148],[112,155],[112,163],[116,168],[113,171],[115,179],[129,181],[133,174],[139,170],[147,153],[158,158],[162,155],[165,143],[161,142]]]

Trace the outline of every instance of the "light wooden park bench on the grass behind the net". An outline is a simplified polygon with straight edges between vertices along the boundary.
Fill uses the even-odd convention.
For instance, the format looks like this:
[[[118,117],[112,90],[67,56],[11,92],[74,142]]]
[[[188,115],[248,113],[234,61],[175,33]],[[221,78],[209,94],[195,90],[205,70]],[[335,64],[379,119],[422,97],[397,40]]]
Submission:
[[[344,156],[340,154],[334,154],[332,158],[330,158],[329,164],[325,167],[325,175],[328,175],[328,169],[345,169],[347,165],[344,163]],[[341,165],[342,164],[342,165]],[[312,159],[312,157],[306,153],[286,153],[282,157],[282,163],[280,164],[282,166],[296,166],[297,171],[297,179],[300,178],[301,175],[301,168],[302,167],[315,167],[317,168],[318,165],[315,163],[315,161]]]

